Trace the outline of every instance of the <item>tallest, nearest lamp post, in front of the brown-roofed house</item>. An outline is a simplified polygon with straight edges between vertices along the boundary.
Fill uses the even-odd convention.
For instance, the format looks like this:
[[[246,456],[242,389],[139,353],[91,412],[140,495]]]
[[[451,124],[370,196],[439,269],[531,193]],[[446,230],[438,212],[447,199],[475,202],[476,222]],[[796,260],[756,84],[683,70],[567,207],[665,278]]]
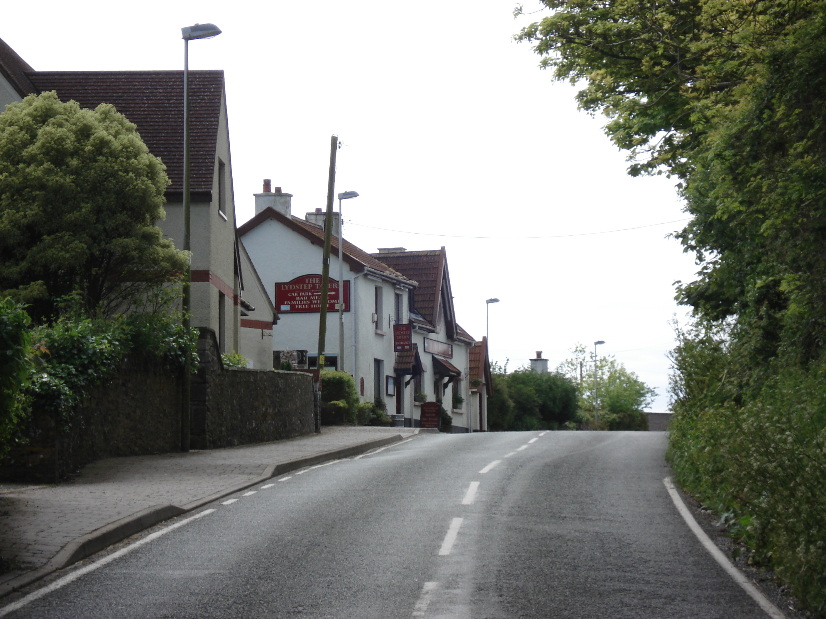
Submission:
[[[189,242],[189,41],[211,39],[221,34],[221,28],[215,24],[195,24],[181,28],[183,38],[183,251],[188,254],[190,267],[183,275],[183,332],[189,333],[189,310],[192,306],[190,288],[192,283],[192,247]],[[183,361],[183,398],[181,405],[181,451],[189,451],[189,406],[190,406],[190,370],[192,352],[187,347],[187,356]]]

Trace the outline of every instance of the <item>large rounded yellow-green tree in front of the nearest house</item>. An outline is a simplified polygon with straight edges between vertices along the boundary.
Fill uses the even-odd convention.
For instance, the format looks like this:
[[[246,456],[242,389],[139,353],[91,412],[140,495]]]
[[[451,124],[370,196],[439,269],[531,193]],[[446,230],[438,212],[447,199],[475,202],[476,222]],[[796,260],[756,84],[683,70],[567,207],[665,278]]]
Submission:
[[[78,291],[110,315],[188,268],[162,238],[164,164],[114,106],[55,92],[0,114],[0,296],[49,319]]]

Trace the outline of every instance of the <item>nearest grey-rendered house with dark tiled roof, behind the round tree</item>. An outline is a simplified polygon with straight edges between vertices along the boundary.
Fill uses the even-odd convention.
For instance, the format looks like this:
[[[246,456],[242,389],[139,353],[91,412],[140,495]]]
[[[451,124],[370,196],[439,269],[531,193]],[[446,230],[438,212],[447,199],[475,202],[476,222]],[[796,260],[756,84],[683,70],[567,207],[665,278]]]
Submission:
[[[167,217],[158,223],[164,237],[181,248],[183,71],[35,71],[0,40],[2,109],[26,95],[49,91],[88,108],[111,103],[137,126],[150,152],[166,165],[171,182]],[[272,300],[264,298],[266,289],[235,230],[223,71],[190,71],[189,92],[192,326],[214,330],[221,352],[240,352],[254,367],[266,369],[272,367],[278,313]],[[253,295],[255,302],[245,295]]]

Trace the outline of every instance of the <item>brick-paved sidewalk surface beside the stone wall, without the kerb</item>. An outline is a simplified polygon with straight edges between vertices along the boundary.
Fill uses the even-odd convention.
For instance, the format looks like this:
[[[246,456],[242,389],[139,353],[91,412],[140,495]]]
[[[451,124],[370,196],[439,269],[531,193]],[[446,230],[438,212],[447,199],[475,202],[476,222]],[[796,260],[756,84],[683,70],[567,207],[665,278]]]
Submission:
[[[0,582],[42,567],[70,541],[142,509],[192,503],[251,483],[270,465],[415,432],[325,427],[320,434],[260,445],[109,458],[57,486],[0,484],[0,556],[21,566]]]

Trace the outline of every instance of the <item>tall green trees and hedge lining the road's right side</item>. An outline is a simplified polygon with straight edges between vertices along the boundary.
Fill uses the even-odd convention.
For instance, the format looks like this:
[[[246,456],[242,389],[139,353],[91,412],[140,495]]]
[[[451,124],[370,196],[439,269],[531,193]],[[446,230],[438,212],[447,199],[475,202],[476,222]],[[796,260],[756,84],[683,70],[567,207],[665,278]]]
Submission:
[[[516,39],[691,215],[676,480],[826,617],[826,0],[542,3]]]

